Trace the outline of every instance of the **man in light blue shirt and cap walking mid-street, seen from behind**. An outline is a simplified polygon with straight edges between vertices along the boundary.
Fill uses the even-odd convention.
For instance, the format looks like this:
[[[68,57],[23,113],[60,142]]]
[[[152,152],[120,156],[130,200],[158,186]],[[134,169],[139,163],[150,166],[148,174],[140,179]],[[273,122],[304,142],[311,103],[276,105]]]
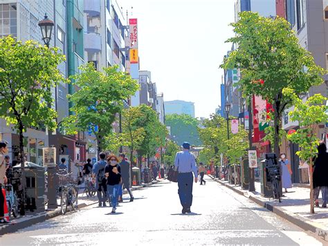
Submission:
[[[197,183],[197,166],[194,155],[189,152],[190,143],[184,142],[181,146],[182,151],[176,153],[174,166],[178,170],[179,198],[183,207],[182,213],[191,213],[192,206],[192,182],[194,173],[194,182]]]

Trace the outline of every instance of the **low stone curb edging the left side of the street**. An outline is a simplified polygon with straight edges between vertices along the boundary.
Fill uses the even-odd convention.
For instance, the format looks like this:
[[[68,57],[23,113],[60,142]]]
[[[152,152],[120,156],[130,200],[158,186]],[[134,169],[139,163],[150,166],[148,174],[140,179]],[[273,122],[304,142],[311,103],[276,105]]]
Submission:
[[[161,182],[161,181],[157,180],[157,181],[153,181],[148,184],[143,184],[142,186],[133,186],[133,187],[131,187],[131,191],[138,191],[143,188],[152,186],[153,184],[158,184],[159,182]],[[123,194],[127,194],[127,191],[124,191]],[[98,203],[98,201],[91,202],[90,204],[81,203],[81,204],[78,204],[78,209],[82,209],[84,207],[89,207],[89,206],[97,204],[97,203]],[[69,209],[69,211],[71,211],[71,209]],[[61,216],[61,215],[62,215],[62,213],[61,213],[60,209],[56,209],[55,211],[45,211],[44,213],[39,213],[34,216],[30,215],[30,216],[24,218],[24,220],[19,221],[19,222],[10,222],[8,224],[0,225],[0,238],[4,234],[14,233],[14,232],[18,231],[19,229],[24,229],[26,227],[30,227],[31,225],[35,225],[39,222],[44,222],[46,220],[49,220],[51,218],[55,218],[55,217]]]

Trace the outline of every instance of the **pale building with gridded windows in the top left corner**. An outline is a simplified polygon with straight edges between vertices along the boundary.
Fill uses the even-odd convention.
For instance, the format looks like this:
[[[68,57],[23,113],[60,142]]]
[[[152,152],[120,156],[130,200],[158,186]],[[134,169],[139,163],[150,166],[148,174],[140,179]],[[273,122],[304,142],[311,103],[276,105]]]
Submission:
[[[54,19],[53,1],[35,0],[0,0],[0,36],[12,35],[25,42],[34,39],[43,44],[42,34],[38,22],[44,19],[47,13],[50,19]],[[54,45],[54,35],[51,38],[51,46]],[[55,90],[53,89],[53,96]],[[17,161],[19,152],[19,137],[6,121],[0,118],[0,138],[8,141],[9,153],[12,161]],[[46,129],[28,129],[24,133],[24,152],[26,159],[42,165],[42,148],[48,146],[48,134]]]

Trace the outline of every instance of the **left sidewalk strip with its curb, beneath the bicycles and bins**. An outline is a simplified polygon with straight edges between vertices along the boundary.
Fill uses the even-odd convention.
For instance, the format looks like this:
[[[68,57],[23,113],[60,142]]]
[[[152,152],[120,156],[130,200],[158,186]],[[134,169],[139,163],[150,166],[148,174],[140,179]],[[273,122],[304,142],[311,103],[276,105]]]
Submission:
[[[149,184],[142,184],[140,186],[132,186],[131,191],[136,191],[140,190],[145,187],[152,186],[152,184],[157,184],[158,182],[161,182],[163,179],[159,179],[157,181],[153,181]],[[86,194],[81,196],[83,191],[79,192],[79,197],[78,197],[78,208],[82,209],[84,207],[93,205],[93,204],[98,204],[98,198],[97,195],[93,197],[87,197]],[[125,190],[124,195],[127,194],[127,191]],[[57,204],[60,204],[60,200],[57,200]],[[25,227],[29,227],[30,225],[37,224],[39,222],[44,222],[45,220],[54,218],[56,216],[62,215],[60,211],[60,207],[58,207],[55,210],[46,210],[44,213],[36,213],[36,214],[26,214],[26,216],[23,217],[18,217],[18,218],[13,218],[10,221],[10,223],[7,224],[0,224],[0,236],[3,234],[8,234],[8,233],[13,233],[15,231],[18,231],[19,229],[23,229]]]

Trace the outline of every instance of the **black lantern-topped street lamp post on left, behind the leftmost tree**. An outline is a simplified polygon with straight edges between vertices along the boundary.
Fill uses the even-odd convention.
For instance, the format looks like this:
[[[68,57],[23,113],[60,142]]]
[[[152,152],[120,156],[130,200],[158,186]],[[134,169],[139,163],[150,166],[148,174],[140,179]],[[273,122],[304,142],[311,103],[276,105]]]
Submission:
[[[41,28],[42,33],[42,40],[44,44],[49,48],[49,44],[51,41],[51,35],[53,33],[53,26],[54,23],[51,19],[48,19],[48,16],[45,14],[44,19],[42,21],[39,21],[39,27]],[[50,88],[48,88],[50,90]],[[55,89],[56,95],[55,100],[57,100],[57,89]],[[57,105],[57,103],[56,103]],[[51,105],[48,105],[51,107]],[[57,109],[57,107],[56,107]],[[48,132],[49,134],[49,140],[51,136],[51,132]],[[56,168],[55,166],[48,166],[47,167],[47,173],[48,173],[48,209],[57,209],[57,182],[56,182]]]

